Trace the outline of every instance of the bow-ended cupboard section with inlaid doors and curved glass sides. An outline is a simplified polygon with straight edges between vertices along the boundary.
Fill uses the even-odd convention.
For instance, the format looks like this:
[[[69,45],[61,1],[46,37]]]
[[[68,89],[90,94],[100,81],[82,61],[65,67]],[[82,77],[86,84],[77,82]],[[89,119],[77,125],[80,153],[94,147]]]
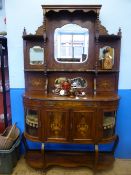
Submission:
[[[34,140],[62,143],[97,143],[115,134],[117,103],[25,99],[25,131]],[[51,104],[51,106],[50,106]],[[112,104],[112,105],[111,105]]]

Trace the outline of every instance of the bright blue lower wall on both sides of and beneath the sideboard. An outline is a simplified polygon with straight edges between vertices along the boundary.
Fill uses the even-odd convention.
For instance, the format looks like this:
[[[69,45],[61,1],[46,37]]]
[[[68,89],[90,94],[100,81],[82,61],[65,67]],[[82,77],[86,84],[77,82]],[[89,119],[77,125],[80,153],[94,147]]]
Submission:
[[[11,108],[12,108],[12,121],[17,122],[17,126],[21,132],[24,130],[24,110],[22,95],[24,89],[11,89]],[[131,90],[119,90],[121,97],[119,109],[117,113],[116,133],[119,135],[119,144],[116,149],[115,157],[117,158],[131,158]],[[34,146],[34,145],[33,145]],[[39,144],[35,145],[39,147]],[[46,149],[93,149],[92,145],[68,145],[65,147],[63,144],[46,144]],[[100,149],[109,150],[111,144],[102,145]]]

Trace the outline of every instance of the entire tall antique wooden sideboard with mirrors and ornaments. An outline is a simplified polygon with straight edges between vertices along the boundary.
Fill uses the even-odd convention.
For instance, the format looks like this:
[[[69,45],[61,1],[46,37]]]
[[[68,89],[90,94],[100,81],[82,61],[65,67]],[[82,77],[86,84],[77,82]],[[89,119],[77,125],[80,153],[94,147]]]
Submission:
[[[108,34],[99,20],[101,5],[42,8],[36,34],[23,32],[26,160],[34,168],[108,168],[118,144],[121,30]],[[26,139],[41,142],[42,149],[29,149]],[[92,144],[94,151],[44,150],[49,142]],[[99,150],[111,142],[110,152]]]

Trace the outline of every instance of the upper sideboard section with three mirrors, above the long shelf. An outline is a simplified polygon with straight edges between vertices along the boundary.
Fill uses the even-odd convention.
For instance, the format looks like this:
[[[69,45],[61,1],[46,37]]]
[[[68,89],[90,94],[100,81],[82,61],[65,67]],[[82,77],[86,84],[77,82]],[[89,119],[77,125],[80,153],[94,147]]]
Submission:
[[[25,70],[118,72],[121,31],[109,35],[101,5],[43,5],[43,25],[23,33]]]

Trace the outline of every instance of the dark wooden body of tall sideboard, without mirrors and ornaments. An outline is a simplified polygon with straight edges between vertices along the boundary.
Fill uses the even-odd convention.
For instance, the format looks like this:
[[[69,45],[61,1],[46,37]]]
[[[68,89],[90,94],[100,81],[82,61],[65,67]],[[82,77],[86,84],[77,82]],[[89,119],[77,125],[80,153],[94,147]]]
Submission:
[[[25,108],[24,137],[41,143],[93,144],[92,152],[30,150],[27,163],[39,169],[54,165],[88,166],[96,171],[113,165],[113,153],[118,144],[115,124],[104,128],[105,117],[115,117],[120,97],[118,91],[121,29],[109,35],[99,20],[101,5],[43,5],[44,20],[35,35],[24,29]],[[58,63],[54,59],[54,31],[74,23],[89,30],[89,54],[84,63]],[[30,48],[44,48],[44,64],[31,65]],[[102,69],[100,48],[114,48],[112,69]],[[60,96],[53,94],[55,80],[60,77],[81,77],[87,81],[86,95]],[[26,111],[35,110],[38,128],[26,123]],[[106,116],[107,115],[107,116]],[[108,116],[109,115],[109,116]],[[30,116],[29,116],[30,117]],[[31,118],[32,120],[32,118]],[[31,121],[32,122],[32,121]],[[34,129],[34,128],[35,129]],[[34,130],[32,130],[34,129]],[[100,152],[99,144],[114,142],[110,152]],[[37,159],[37,162],[36,162]]]

